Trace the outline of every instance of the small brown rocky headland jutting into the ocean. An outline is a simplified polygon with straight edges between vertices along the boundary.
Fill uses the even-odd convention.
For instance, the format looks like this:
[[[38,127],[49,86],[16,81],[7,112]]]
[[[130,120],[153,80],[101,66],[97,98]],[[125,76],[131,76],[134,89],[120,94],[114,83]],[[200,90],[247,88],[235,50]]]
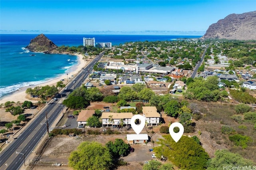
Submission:
[[[32,52],[55,53],[58,46],[44,34],[40,34],[31,39],[30,44],[26,48]]]

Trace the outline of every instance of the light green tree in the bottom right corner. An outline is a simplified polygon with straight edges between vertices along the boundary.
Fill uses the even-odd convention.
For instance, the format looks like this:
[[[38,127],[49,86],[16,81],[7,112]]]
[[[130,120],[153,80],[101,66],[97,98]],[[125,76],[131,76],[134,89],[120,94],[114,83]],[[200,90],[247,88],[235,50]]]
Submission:
[[[207,170],[223,170],[223,167],[244,167],[253,166],[254,162],[243,158],[240,154],[232,153],[228,150],[217,150],[214,158],[209,162]]]

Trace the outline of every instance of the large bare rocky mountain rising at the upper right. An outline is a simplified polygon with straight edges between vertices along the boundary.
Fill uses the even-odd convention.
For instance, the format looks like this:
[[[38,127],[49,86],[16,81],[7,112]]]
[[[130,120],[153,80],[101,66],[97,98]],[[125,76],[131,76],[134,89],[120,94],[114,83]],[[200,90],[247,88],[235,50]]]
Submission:
[[[256,40],[256,11],[226,16],[210,25],[201,39]]]

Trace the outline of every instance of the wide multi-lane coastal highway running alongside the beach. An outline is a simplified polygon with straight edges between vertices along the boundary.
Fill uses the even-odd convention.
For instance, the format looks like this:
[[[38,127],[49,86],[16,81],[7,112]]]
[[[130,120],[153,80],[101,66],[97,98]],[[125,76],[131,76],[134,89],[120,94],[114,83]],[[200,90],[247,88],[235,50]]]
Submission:
[[[14,139],[9,146],[0,154],[0,169],[1,170],[18,170],[24,159],[33,152],[38,142],[47,135],[46,126],[46,113],[49,127],[55,121],[59,114],[62,114],[62,97],[65,98],[72,92],[71,89],[79,87],[84,83],[85,78],[92,71],[96,62],[104,55],[104,51],[97,55],[79,74],[74,77],[70,83],[67,84],[68,90],[64,90],[61,94],[57,95],[58,100],[54,102],[52,99],[48,102],[47,106],[38,113],[39,115],[30,123],[30,125],[23,130],[23,132]],[[76,81],[74,83],[74,80]],[[55,126],[55,125],[54,125]],[[25,161],[28,165],[28,161]]]

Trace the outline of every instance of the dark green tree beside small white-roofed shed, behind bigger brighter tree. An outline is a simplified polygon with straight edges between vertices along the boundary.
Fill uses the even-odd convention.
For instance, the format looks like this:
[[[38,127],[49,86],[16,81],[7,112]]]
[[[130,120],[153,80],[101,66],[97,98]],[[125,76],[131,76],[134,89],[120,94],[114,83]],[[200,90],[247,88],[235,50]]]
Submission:
[[[114,158],[119,158],[121,155],[127,155],[129,145],[124,143],[122,139],[115,139],[115,142],[108,141],[106,147]]]

